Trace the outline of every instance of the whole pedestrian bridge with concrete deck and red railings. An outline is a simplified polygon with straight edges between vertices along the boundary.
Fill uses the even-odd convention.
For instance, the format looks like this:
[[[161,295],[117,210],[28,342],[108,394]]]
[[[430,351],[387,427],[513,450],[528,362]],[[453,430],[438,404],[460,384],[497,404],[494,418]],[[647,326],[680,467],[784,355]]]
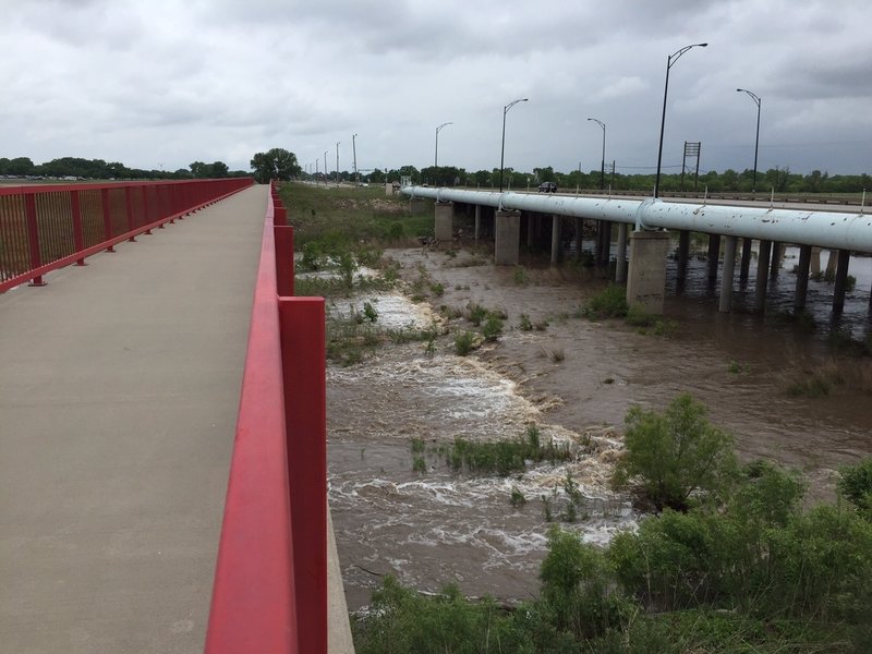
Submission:
[[[323,300],[269,187],[184,184],[0,190],[3,651],[351,651]]]

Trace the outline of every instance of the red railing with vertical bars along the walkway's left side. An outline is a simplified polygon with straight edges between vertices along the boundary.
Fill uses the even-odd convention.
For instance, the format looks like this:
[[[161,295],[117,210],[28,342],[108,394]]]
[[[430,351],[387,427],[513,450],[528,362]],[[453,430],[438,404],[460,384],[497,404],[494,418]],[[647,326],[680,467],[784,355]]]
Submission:
[[[0,186],[0,293],[246,189],[251,178]]]

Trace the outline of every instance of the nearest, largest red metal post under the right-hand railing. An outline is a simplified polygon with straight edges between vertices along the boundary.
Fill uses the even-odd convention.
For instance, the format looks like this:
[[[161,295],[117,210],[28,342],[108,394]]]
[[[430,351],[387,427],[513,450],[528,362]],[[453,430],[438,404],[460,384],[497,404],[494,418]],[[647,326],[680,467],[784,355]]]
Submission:
[[[324,298],[279,298],[299,652],[327,653]]]

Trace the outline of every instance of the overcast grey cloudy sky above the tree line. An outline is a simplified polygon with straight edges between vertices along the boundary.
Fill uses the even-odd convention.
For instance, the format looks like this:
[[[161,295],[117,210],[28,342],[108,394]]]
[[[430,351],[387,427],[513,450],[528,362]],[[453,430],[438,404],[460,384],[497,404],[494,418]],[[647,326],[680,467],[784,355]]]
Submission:
[[[0,0],[0,157],[872,172],[869,0]],[[314,168],[314,167],[313,167]]]

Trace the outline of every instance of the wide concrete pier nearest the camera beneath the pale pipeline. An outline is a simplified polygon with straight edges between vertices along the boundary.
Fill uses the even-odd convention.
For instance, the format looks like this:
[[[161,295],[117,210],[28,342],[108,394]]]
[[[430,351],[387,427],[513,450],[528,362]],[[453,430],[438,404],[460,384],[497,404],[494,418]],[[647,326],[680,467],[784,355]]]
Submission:
[[[662,315],[666,296],[669,232],[633,231],[630,233],[630,246],[627,303],[641,304],[646,312]]]

